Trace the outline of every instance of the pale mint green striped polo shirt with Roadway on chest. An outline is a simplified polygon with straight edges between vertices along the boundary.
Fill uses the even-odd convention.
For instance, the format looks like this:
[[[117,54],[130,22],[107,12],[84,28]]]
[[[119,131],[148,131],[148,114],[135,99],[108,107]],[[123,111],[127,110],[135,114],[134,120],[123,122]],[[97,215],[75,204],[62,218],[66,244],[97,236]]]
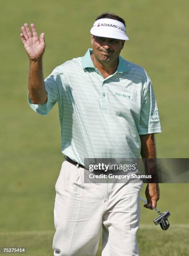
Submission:
[[[151,80],[121,56],[104,79],[90,53],[56,67],[45,79],[47,102],[29,104],[47,115],[58,102],[61,151],[82,165],[84,158],[139,158],[139,135],[161,132]]]

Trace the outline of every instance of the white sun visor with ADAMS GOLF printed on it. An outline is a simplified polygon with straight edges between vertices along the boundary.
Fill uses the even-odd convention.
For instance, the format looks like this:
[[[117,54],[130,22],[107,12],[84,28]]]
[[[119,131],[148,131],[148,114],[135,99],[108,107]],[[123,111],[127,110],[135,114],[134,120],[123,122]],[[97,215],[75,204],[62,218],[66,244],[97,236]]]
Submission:
[[[128,36],[126,35],[124,24],[118,20],[96,20],[90,32],[94,36],[129,40]]]

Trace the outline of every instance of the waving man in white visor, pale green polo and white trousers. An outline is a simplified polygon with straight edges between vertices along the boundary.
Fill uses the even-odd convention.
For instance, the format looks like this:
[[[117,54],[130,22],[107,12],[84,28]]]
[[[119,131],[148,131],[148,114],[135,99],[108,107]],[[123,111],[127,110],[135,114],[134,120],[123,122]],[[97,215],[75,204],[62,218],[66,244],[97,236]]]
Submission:
[[[66,61],[43,80],[44,33],[24,24],[22,42],[30,59],[28,100],[41,115],[59,104],[62,153],[56,182],[54,256],[96,254],[102,225],[102,256],[136,256],[142,183],[84,183],[84,159],[155,158],[153,133],[161,132],[151,80],[146,71],[120,56],[125,21],[98,16],[92,49]],[[146,187],[156,207],[158,184]]]

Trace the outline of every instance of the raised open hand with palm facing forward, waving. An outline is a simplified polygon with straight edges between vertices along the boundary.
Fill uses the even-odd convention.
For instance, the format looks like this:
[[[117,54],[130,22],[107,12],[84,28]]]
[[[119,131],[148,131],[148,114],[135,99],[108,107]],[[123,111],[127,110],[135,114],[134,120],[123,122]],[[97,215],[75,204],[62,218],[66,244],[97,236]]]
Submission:
[[[45,51],[45,33],[41,33],[40,37],[38,38],[36,27],[33,23],[31,24],[31,28],[33,36],[31,34],[28,24],[25,23],[24,26],[21,27],[23,33],[20,34],[20,38],[23,42],[24,48],[29,58],[31,60],[38,60],[41,59]]]

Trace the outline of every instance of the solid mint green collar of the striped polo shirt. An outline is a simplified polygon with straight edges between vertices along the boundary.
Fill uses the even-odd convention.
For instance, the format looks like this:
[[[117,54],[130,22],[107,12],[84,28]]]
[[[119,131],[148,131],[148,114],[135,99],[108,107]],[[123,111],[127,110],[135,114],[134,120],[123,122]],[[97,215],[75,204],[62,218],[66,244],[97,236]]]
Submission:
[[[91,59],[91,54],[92,54],[92,49],[88,49],[86,54],[82,57],[82,67],[83,69],[86,69],[86,68],[94,68],[95,69],[95,66],[92,62],[92,59]],[[127,62],[125,61],[125,59],[123,59],[120,55],[118,56],[118,67],[117,67],[117,70],[116,72],[117,73],[122,73],[122,72],[126,72],[129,70],[129,67],[127,65]]]

